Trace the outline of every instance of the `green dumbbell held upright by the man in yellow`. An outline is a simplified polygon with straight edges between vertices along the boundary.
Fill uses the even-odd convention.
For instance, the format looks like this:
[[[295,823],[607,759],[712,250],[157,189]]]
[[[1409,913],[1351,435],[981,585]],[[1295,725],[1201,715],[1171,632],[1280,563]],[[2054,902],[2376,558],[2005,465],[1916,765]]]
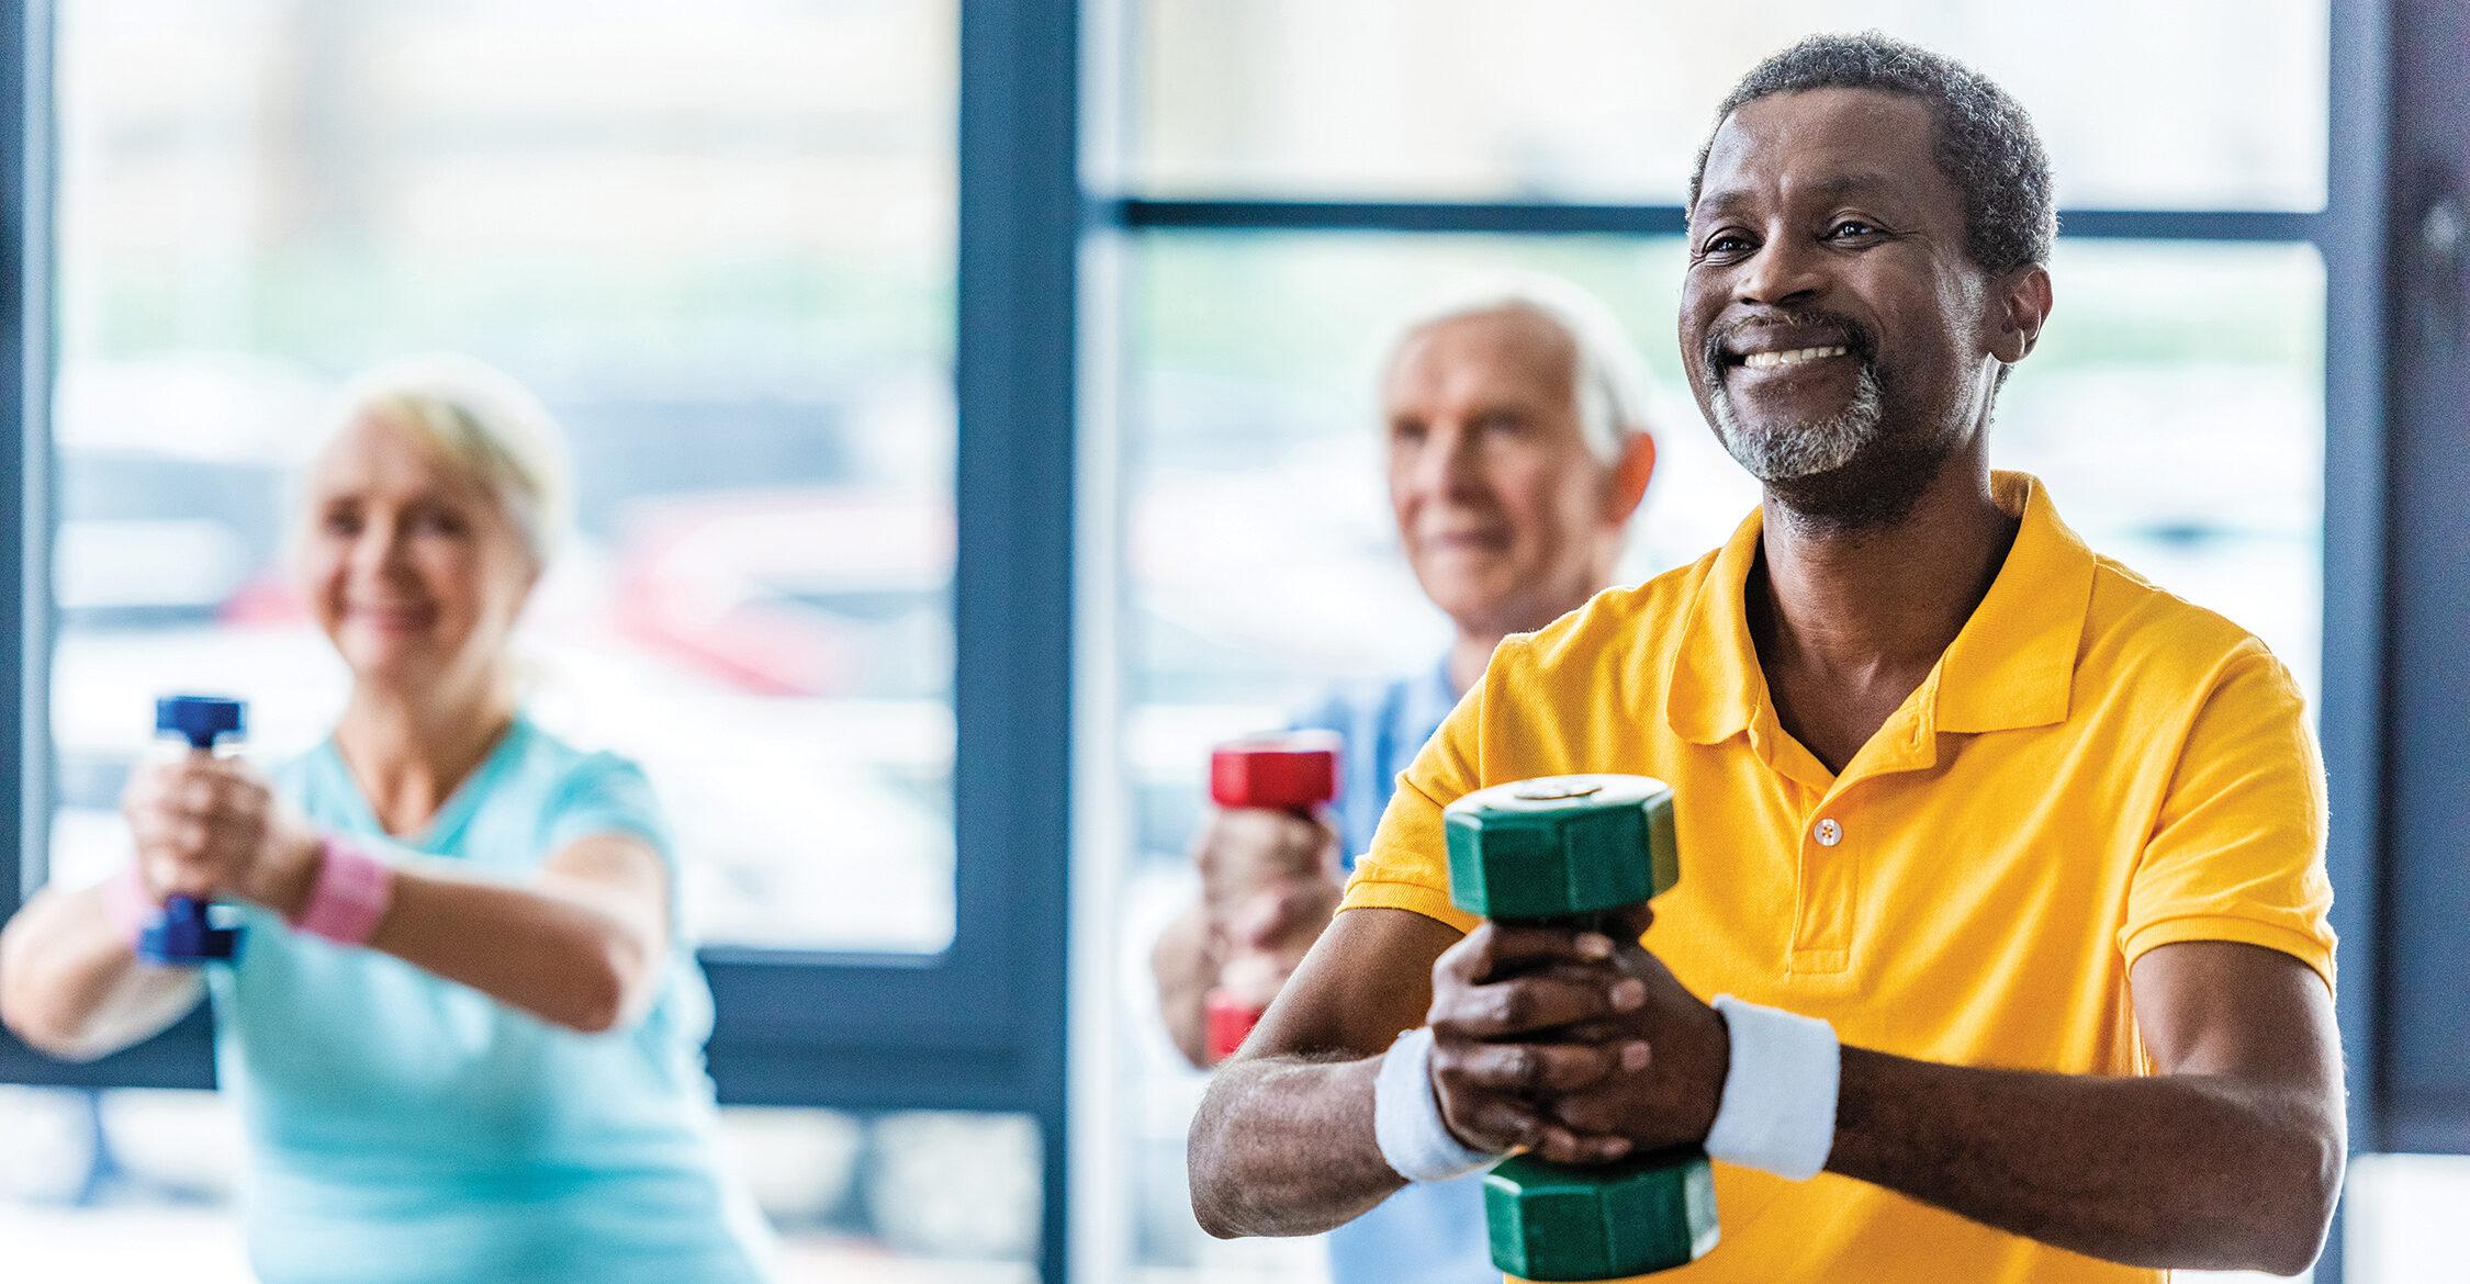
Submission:
[[[1450,901],[1504,923],[1615,928],[1682,877],[1672,788],[1546,775],[1442,812]],[[1687,1146],[1606,1165],[1507,1158],[1484,1175],[1492,1264],[1519,1279],[1620,1279],[1697,1262],[1717,1240],[1714,1175]]]

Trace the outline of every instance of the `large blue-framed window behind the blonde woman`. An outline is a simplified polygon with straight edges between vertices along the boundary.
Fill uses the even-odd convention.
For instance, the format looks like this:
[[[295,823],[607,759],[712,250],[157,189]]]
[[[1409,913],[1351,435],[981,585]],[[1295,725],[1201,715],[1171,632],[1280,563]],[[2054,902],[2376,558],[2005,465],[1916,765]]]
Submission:
[[[887,0],[5,22],[0,180],[32,193],[0,272],[35,370],[7,385],[12,511],[44,556],[17,568],[40,677],[0,914],[126,857],[156,694],[247,696],[259,758],[329,731],[346,674],[291,590],[296,472],[356,370],[474,356],[576,459],[529,709],[652,778],[731,1153],[798,1277],[1052,1272],[1067,620],[1035,607],[1070,565],[1023,531],[1062,511],[1070,383],[966,319],[1035,294],[1070,321],[1040,277],[1070,272],[1070,217],[1025,205],[1072,190],[1035,116],[1070,94],[968,86],[1055,84],[1070,42]],[[198,1240],[227,1225],[222,1106],[163,1091],[210,1082],[205,1044],[203,1017],[96,1064],[0,1037],[0,1077],[79,1089],[0,1091],[0,1133],[40,1143],[0,1180],[0,1274],[143,1272],[89,1252],[146,1227],[237,1272]]]

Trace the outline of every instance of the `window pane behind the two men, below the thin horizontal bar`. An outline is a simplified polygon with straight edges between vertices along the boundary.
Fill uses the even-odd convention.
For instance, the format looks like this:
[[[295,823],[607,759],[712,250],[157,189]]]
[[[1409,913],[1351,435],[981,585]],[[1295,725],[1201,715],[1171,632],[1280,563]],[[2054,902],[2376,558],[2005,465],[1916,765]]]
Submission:
[[[1452,277],[1541,269],[1593,289],[1662,383],[1657,472],[1623,578],[1722,543],[1756,484],[1682,385],[1677,240],[1146,235],[1126,247],[1121,390],[1121,938],[1126,1017],[1092,1072],[1121,1101],[1119,1200],[1136,1264],[1240,1279],[1317,1269],[1218,1244],[1183,1200],[1203,1079],[1168,1044],[1146,956],[1193,896],[1186,847],[1210,743],[1282,726],[1358,679],[1423,672],[1447,640],[1408,575],[1371,378],[1386,323]],[[2058,311],[2001,398],[1998,467],[2040,474],[2100,551],[2258,630],[2317,686],[2324,281],[2307,247],[2062,242]],[[1119,869],[1119,874],[1116,874]],[[1240,1257],[1257,1252],[1260,1257]]]

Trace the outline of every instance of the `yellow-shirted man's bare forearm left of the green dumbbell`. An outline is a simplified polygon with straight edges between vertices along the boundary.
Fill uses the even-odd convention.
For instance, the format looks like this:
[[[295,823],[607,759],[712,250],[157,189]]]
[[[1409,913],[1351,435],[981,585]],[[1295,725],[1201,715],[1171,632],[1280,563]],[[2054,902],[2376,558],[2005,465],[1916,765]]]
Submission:
[[[1405,1180],[1373,1138],[1381,1057],[1250,1057],[1210,1082],[1188,1148],[1193,1217],[1220,1240],[1319,1235]]]

